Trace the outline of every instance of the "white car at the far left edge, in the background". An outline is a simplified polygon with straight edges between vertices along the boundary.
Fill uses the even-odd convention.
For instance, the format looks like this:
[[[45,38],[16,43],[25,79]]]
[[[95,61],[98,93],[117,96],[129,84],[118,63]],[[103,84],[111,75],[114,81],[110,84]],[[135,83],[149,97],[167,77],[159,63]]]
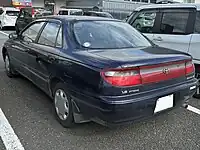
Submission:
[[[19,9],[14,7],[0,7],[0,29],[4,27],[14,27]]]

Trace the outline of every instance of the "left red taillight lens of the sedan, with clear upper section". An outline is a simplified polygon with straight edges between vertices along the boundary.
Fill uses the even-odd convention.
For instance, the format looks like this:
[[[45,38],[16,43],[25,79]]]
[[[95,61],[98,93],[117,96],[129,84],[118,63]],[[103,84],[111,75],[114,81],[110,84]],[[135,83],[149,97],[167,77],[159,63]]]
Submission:
[[[101,72],[105,81],[114,86],[132,86],[141,84],[139,69],[109,70]]]

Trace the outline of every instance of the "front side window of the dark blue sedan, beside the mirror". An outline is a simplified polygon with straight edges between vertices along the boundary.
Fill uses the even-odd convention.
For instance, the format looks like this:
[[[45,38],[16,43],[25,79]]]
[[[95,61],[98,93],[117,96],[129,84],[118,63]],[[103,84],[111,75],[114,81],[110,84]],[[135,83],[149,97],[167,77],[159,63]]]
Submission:
[[[37,22],[28,27],[23,33],[22,37],[26,37],[31,39],[32,41],[36,40],[36,37],[41,29],[41,27],[44,25],[45,22]]]

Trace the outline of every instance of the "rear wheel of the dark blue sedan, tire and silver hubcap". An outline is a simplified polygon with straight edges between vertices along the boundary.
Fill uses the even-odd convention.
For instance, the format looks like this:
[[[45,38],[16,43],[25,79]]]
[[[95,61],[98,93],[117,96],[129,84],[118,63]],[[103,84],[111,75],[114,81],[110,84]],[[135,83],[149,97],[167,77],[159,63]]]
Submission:
[[[71,97],[65,86],[64,83],[56,84],[53,89],[53,106],[58,122],[63,127],[70,128],[74,125],[73,107]]]

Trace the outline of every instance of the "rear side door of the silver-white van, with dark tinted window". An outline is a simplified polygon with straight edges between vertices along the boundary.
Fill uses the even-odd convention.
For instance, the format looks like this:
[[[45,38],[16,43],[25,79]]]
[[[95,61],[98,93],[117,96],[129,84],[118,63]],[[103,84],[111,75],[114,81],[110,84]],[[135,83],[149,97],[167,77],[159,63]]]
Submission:
[[[153,42],[161,47],[188,52],[195,9],[162,9]]]

